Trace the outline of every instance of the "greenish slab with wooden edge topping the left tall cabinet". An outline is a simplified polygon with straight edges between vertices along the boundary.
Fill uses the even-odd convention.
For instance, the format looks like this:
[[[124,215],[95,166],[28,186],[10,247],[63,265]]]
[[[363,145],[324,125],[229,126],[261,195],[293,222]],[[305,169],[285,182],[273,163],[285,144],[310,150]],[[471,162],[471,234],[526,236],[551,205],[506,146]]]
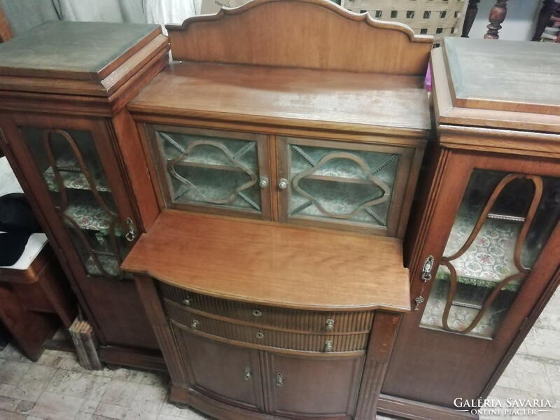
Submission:
[[[102,80],[158,33],[158,25],[46,22],[0,44],[0,75]]]

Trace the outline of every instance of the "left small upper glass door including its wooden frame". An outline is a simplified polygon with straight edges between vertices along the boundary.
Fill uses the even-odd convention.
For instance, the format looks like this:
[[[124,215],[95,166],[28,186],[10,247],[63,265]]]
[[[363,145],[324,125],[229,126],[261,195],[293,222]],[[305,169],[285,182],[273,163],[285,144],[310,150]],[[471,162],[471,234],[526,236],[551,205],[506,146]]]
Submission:
[[[269,218],[265,136],[148,126],[167,207]]]

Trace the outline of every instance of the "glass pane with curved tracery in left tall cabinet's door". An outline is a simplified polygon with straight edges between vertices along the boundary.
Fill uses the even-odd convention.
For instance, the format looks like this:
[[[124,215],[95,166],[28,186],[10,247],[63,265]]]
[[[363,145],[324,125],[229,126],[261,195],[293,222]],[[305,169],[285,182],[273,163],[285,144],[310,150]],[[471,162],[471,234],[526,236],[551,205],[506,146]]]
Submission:
[[[92,134],[22,127],[53,204],[90,276],[120,278],[130,251]]]

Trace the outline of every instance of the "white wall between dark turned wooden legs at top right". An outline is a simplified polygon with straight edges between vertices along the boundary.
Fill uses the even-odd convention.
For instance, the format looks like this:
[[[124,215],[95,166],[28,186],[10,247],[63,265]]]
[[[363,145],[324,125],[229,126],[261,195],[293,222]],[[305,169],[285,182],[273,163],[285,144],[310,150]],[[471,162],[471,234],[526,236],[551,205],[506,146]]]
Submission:
[[[541,0],[509,0],[507,15],[500,29],[500,39],[530,41],[535,31],[535,22],[541,7]],[[482,38],[486,34],[488,16],[495,0],[482,0],[478,3],[478,14],[470,29],[470,38]]]

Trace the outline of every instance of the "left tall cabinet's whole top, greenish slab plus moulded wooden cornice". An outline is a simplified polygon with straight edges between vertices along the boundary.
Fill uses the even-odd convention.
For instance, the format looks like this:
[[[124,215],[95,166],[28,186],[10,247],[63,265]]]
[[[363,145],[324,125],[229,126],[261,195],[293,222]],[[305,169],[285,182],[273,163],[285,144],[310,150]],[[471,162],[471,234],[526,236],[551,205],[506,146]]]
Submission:
[[[109,116],[168,52],[158,25],[47,22],[0,44],[0,109]]]

